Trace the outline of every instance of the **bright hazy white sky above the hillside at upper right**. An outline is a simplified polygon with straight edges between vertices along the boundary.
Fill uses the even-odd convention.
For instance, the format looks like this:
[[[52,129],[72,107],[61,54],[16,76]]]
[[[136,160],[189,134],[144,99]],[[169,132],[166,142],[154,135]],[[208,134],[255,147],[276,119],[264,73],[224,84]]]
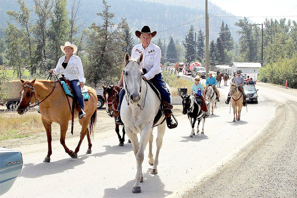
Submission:
[[[246,16],[258,24],[268,19],[286,18],[297,22],[297,0],[209,0],[235,16]],[[278,17],[280,16],[280,17]]]

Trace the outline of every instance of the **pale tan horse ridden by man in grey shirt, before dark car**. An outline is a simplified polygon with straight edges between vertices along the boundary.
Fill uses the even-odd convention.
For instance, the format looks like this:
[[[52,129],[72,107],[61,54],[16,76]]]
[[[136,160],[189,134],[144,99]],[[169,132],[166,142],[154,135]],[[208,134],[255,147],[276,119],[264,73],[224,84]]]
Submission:
[[[236,86],[237,83],[230,83],[230,92],[228,93],[228,96],[231,97],[231,104],[233,108],[233,122],[235,122],[235,114],[236,114],[236,119],[240,120],[240,112],[242,109],[242,102],[243,102],[243,95],[239,91],[238,87]]]

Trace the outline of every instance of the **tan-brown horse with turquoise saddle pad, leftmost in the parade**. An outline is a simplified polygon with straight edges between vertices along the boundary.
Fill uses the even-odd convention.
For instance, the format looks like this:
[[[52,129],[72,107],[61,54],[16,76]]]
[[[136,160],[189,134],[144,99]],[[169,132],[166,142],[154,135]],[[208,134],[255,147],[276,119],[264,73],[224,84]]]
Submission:
[[[88,94],[90,98],[88,101],[85,101],[84,111],[87,116],[83,120],[79,120],[80,125],[82,126],[80,132],[80,141],[73,152],[69,150],[65,145],[65,135],[68,128],[68,121],[71,120],[71,108],[68,104],[67,97],[62,90],[62,86],[58,81],[51,80],[33,80],[24,81],[21,80],[23,84],[20,95],[21,99],[19,101],[18,113],[24,114],[28,106],[38,99],[40,101],[39,108],[41,113],[41,120],[46,130],[47,142],[48,142],[48,153],[43,162],[49,162],[50,156],[52,154],[52,136],[51,136],[51,124],[53,122],[60,124],[61,127],[61,138],[60,142],[63,145],[65,152],[68,153],[72,158],[77,158],[77,153],[80,150],[80,144],[84,139],[84,136],[87,135],[88,138],[88,150],[87,153],[92,153],[91,147],[91,138],[93,136],[93,127],[96,123],[97,118],[97,95],[96,91],[88,86],[84,86],[88,89]],[[72,104],[72,98],[69,98],[70,105]],[[74,110],[74,117],[78,117],[78,111]]]

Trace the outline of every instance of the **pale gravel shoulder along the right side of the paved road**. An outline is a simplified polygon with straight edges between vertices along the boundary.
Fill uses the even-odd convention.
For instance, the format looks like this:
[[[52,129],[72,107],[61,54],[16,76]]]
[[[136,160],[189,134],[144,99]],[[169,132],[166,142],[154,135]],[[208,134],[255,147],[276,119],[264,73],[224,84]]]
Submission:
[[[297,197],[297,92],[258,84],[275,117],[236,157],[176,197]]]

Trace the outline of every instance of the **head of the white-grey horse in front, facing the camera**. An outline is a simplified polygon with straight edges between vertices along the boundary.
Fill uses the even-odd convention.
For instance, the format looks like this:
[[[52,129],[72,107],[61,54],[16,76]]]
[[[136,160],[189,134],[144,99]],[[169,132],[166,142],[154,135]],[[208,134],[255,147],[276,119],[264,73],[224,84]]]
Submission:
[[[137,104],[140,100],[141,83],[142,83],[142,69],[140,63],[142,62],[143,55],[135,59],[130,59],[129,54],[125,54],[124,67],[124,88],[126,91],[127,100],[130,100],[132,104]]]

